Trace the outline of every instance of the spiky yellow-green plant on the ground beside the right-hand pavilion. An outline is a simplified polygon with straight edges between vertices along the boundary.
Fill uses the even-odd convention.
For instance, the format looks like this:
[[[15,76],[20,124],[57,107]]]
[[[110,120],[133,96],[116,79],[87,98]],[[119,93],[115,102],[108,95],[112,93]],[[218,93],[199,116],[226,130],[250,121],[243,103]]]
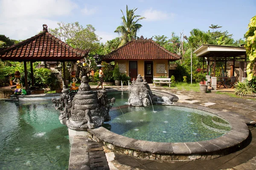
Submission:
[[[245,94],[253,95],[255,93],[255,88],[250,87],[248,81],[238,82],[235,87],[235,94],[239,96],[244,96]]]

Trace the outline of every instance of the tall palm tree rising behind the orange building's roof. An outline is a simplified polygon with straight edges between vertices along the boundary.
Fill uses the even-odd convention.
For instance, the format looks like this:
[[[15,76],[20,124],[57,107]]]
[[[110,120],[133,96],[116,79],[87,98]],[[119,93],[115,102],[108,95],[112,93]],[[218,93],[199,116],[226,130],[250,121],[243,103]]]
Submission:
[[[136,38],[137,31],[142,27],[141,24],[138,24],[139,20],[144,19],[145,17],[141,17],[140,15],[134,15],[134,12],[136,9],[128,9],[128,6],[126,5],[126,17],[122,12],[122,26],[118,26],[116,28],[116,33],[119,35],[121,34],[121,43],[119,44],[119,47],[122,45],[125,45],[127,42],[131,41],[132,38]],[[138,19],[137,19],[138,18]]]

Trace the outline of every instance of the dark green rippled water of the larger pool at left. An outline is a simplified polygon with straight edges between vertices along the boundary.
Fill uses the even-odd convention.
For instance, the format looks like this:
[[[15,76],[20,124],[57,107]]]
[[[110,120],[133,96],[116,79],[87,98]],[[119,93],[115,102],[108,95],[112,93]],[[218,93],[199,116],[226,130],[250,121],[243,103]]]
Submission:
[[[68,169],[67,126],[49,102],[0,101],[0,169]]]

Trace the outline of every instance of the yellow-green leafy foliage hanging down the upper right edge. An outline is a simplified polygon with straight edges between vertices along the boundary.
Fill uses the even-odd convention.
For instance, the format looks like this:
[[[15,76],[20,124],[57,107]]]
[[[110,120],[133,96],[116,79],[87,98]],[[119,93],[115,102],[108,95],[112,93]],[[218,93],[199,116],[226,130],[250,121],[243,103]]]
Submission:
[[[253,76],[256,76],[256,16],[250,19],[248,28],[245,33],[246,44],[244,47],[250,61],[246,67],[247,80],[250,81]]]

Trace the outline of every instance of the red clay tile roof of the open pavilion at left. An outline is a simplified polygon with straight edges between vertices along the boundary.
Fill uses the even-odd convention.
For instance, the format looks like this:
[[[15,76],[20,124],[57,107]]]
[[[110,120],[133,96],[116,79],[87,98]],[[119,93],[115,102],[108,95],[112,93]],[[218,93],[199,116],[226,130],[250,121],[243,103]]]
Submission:
[[[47,30],[23,42],[0,51],[0,59],[13,61],[76,61],[86,57],[89,50],[67,45]]]

